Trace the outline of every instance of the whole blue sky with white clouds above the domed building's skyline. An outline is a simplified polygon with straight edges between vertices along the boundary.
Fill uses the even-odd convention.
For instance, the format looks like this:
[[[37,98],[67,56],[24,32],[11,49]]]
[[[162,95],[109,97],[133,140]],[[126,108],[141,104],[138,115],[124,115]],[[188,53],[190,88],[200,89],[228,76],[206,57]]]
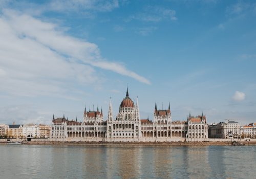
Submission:
[[[0,1],[0,123],[114,116],[256,122],[256,2]]]

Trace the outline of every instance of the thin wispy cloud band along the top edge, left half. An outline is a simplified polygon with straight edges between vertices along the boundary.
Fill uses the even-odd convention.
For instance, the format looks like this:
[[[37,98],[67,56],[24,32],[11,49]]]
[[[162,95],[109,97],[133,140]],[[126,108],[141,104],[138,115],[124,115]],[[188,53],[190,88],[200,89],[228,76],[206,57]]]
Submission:
[[[65,14],[82,14],[83,18],[94,18],[98,12],[110,12],[119,8],[118,0],[52,0],[43,2],[8,1],[0,2],[0,8],[12,8],[30,15],[41,15],[45,12]]]

